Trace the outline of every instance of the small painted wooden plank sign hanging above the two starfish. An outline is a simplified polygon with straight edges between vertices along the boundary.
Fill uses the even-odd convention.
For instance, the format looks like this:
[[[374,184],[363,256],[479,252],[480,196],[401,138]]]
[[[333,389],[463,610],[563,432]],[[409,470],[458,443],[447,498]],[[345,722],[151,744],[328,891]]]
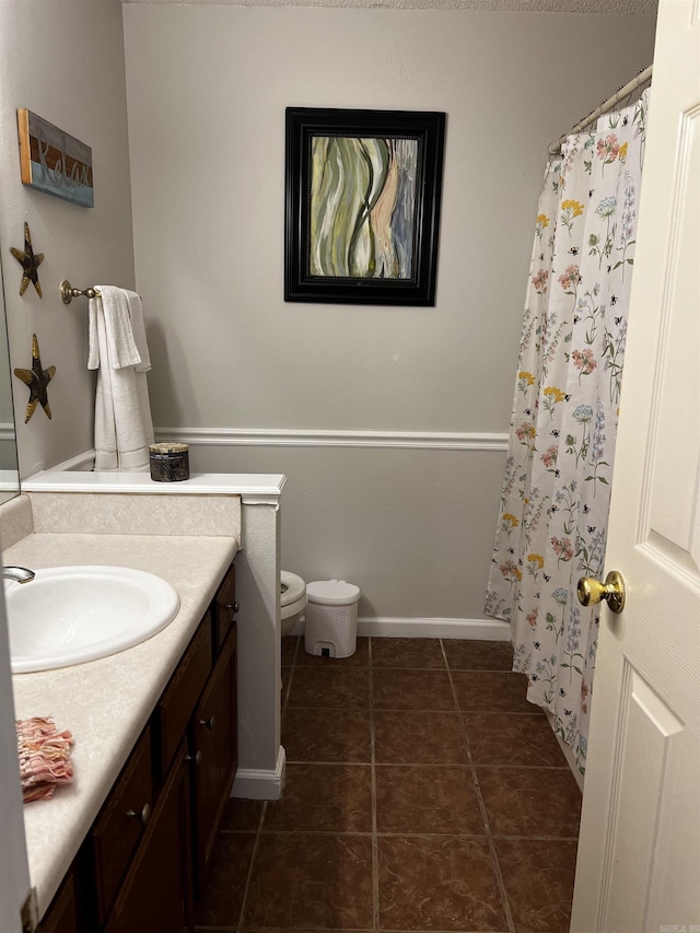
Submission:
[[[22,183],[94,207],[92,149],[32,110],[18,110]]]

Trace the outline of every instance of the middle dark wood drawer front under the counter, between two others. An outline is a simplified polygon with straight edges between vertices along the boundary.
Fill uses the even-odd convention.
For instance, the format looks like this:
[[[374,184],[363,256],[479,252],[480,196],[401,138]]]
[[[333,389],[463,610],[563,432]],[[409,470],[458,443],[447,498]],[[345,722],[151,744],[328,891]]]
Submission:
[[[207,613],[158,704],[162,775],[167,772],[183,739],[211,665],[211,614]]]

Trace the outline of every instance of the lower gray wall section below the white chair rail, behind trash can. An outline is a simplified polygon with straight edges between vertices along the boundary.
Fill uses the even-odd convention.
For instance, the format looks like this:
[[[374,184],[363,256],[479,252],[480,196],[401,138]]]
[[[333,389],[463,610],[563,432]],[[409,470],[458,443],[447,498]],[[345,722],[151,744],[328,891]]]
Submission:
[[[502,454],[218,446],[192,456],[214,471],[285,474],[282,565],[357,583],[360,616],[482,617]]]

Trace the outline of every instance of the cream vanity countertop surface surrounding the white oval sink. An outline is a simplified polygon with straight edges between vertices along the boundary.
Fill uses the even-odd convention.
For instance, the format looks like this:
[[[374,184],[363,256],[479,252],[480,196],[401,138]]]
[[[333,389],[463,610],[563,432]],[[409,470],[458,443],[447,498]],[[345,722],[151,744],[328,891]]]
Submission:
[[[113,564],[155,573],[175,586],[177,616],[163,631],[109,657],[15,674],[18,719],[50,715],[70,730],[74,779],[50,801],[24,807],[30,876],[39,915],[56,894],[183,651],[238,549],[233,537],[30,535],[5,564],[37,569]],[[30,584],[31,585],[31,584]]]

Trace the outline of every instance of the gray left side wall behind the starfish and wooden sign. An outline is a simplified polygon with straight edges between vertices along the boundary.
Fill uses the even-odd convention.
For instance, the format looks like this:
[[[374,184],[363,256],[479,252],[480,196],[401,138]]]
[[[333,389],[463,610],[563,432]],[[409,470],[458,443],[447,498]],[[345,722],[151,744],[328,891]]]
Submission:
[[[27,107],[92,147],[95,207],[81,208],[22,185],[18,107]],[[26,387],[12,376],[22,476],[93,446],[94,374],[88,361],[88,301],[70,307],[58,283],[133,287],[131,195],[119,0],[0,2],[0,242],[12,366],[31,369],[32,334],[49,385],[49,421],[37,408],[28,424]],[[24,248],[24,221],[39,281],[20,298],[22,269],[10,246]]]

